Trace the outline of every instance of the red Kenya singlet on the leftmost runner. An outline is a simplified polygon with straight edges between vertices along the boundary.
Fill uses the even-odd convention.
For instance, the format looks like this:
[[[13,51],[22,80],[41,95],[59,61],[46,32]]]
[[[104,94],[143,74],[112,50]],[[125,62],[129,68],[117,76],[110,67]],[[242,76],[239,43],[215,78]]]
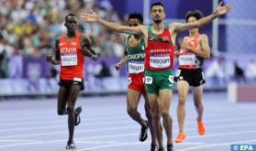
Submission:
[[[81,52],[79,43],[80,33],[76,33],[76,37],[66,40],[61,36],[59,43],[61,58],[61,80],[74,80],[75,78],[83,79],[83,62],[84,56]]]

